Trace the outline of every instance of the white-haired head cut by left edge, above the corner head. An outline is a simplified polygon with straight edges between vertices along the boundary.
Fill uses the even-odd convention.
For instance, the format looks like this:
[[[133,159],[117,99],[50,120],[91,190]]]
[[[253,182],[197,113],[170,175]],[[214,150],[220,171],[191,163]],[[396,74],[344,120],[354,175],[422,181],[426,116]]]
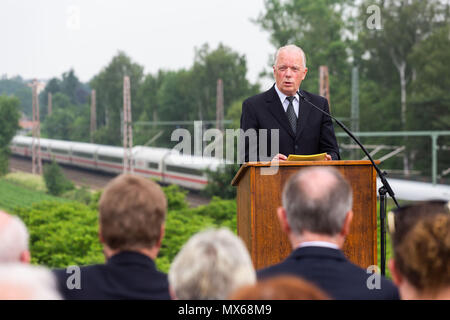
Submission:
[[[17,216],[0,211],[0,263],[30,262],[28,231]]]

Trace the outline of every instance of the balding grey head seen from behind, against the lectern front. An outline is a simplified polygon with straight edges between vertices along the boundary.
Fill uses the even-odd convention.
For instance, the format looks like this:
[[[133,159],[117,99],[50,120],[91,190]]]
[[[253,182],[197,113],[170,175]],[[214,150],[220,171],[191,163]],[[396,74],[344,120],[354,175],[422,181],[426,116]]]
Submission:
[[[352,208],[350,184],[335,169],[316,167],[300,170],[283,189],[283,207],[292,232],[334,236]]]

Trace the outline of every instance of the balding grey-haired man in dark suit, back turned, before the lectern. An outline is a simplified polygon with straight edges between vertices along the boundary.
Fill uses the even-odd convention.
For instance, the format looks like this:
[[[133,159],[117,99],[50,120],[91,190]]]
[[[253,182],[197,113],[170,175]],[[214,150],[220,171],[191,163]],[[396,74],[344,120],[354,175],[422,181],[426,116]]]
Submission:
[[[290,274],[334,299],[399,299],[397,288],[354,265],[341,251],[353,217],[349,183],[333,168],[302,169],[286,183],[277,214],[293,252],[258,271],[258,279]]]

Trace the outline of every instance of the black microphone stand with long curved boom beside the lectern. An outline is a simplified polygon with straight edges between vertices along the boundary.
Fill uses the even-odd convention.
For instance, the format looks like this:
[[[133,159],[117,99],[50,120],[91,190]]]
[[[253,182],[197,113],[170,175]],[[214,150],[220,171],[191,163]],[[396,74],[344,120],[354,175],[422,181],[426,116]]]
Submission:
[[[380,168],[375,164],[375,161],[373,161],[371,155],[367,151],[367,149],[362,145],[362,143],[354,136],[354,134],[347,129],[347,127],[338,119],[333,117],[328,112],[320,109],[318,106],[316,106],[314,103],[306,99],[305,95],[300,92],[300,90],[297,91],[298,96],[303,100],[309,103],[311,106],[322,112],[323,114],[329,116],[331,119],[336,121],[336,123],[342,128],[342,130],[347,133],[350,138],[352,138],[361,148],[361,150],[365,153],[365,155],[369,158],[370,162],[372,163],[373,167],[375,168],[378,176],[380,177],[381,183],[383,186],[381,186],[378,189],[378,194],[380,195],[380,243],[381,243],[381,274],[384,276],[386,273],[386,194],[389,194],[389,196],[394,200],[395,205],[397,208],[399,207],[399,204],[397,202],[397,199],[395,198],[394,191],[392,190],[391,186],[389,185],[389,182],[386,179],[387,173],[385,171],[381,171]]]

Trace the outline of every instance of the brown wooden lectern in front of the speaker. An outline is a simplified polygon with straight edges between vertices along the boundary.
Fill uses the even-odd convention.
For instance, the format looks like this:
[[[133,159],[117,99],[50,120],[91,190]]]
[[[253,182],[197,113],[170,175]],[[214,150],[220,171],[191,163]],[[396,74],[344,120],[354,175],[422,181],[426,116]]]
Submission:
[[[255,268],[278,263],[291,252],[276,210],[289,176],[311,166],[332,166],[350,182],[354,216],[343,250],[363,268],[377,265],[376,171],[370,161],[286,161],[273,172],[267,171],[271,168],[268,162],[245,163],[232,181],[237,186],[238,235],[247,245]]]

